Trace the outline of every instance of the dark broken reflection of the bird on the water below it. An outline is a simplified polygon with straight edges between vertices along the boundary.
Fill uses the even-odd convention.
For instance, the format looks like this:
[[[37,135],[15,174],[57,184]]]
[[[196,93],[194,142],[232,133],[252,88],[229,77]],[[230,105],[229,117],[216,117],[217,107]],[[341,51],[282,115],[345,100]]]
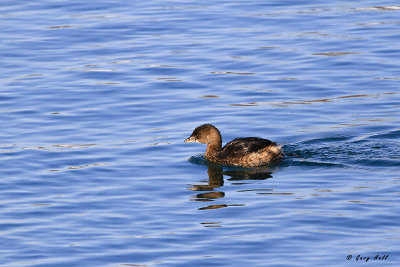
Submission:
[[[207,166],[207,175],[208,181],[207,184],[203,185],[193,185],[189,187],[189,190],[193,191],[204,191],[204,193],[199,193],[194,197],[194,201],[214,201],[218,198],[223,198],[225,196],[225,192],[222,190],[217,190],[224,185],[224,175],[229,176],[228,181],[243,181],[243,180],[265,180],[268,178],[272,178],[271,169],[269,168],[257,168],[257,169],[244,169],[244,168],[233,168],[233,167],[225,167],[228,168],[224,171],[224,166],[221,164],[216,164],[212,162],[208,162],[202,158],[192,157],[189,161],[195,164],[205,165]],[[221,204],[221,205],[210,205],[207,207],[200,208],[204,209],[217,209],[224,208],[230,205]],[[237,205],[234,205],[237,206]]]

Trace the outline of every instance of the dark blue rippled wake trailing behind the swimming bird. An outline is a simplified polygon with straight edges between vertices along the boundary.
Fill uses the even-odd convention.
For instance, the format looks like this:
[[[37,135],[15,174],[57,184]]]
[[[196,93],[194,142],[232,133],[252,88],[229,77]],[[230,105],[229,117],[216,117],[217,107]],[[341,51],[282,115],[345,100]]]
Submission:
[[[400,167],[400,130],[357,137],[327,137],[286,144],[291,165],[336,167]]]

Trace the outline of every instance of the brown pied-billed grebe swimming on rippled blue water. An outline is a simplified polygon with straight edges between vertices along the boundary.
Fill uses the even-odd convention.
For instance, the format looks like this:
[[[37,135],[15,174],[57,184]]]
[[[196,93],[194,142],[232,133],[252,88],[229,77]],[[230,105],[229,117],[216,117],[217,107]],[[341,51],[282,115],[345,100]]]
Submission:
[[[218,129],[211,124],[203,124],[194,129],[185,143],[207,144],[207,160],[242,167],[257,167],[280,159],[281,146],[258,137],[236,138],[222,147],[222,138]]]

